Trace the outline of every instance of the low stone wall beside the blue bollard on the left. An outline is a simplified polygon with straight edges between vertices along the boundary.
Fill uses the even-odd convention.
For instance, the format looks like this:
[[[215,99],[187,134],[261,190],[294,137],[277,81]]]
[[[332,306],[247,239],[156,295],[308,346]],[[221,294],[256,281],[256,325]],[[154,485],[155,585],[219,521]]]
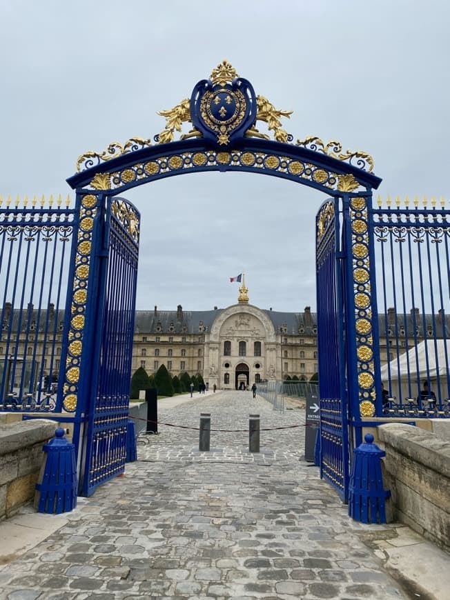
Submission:
[[[0,519],[35,496],[42,446],[56,428],[55,421],[44,419],[0,425]]]

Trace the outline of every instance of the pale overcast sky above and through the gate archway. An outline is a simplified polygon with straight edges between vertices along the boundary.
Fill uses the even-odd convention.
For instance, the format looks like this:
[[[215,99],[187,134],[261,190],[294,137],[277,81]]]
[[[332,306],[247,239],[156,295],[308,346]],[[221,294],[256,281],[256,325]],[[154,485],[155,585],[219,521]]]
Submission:
[[[449,17],[446,0],[1,0],[0,193],[71,192],[79,154],[153,137],[157,111],[226,58],[294,111],[294,139],[369,152],[383,198],[449,199]],[[204,173],[126,197],[141,211],[137,308],[224,308],[242,271],[252,304],[315,308],[319,192]]]

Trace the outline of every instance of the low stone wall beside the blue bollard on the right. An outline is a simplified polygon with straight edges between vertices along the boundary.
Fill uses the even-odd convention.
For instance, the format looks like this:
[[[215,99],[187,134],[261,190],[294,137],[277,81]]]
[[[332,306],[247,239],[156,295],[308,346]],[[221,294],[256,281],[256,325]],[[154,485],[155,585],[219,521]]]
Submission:
[[[378,428],[393,518],[450,550],[450,443],[403,423]]]

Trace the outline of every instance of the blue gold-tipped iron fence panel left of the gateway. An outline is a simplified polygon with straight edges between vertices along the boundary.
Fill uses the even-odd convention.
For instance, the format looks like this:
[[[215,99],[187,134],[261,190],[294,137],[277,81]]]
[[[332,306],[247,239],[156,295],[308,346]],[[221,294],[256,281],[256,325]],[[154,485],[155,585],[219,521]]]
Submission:
[[[0,407],[61,410],[64,321],[78,219],[70,199],[0,208]]]

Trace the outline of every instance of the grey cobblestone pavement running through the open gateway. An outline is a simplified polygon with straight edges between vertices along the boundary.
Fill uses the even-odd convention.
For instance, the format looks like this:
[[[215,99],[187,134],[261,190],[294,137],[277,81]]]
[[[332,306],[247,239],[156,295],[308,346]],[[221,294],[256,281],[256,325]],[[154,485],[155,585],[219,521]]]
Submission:
[[[272,410],[250,392],[159,403],[159,421],[212,429],[303,425],[304,411]],[[304,426],[261,432],[248,454],[247,432],[159,426],[139,439],[135,463],[88,499],[68,523],[0,570],[0,598],[88,599],[389,599],[404,598],[364,546],[364,526],[318,469],[302,461]]]

